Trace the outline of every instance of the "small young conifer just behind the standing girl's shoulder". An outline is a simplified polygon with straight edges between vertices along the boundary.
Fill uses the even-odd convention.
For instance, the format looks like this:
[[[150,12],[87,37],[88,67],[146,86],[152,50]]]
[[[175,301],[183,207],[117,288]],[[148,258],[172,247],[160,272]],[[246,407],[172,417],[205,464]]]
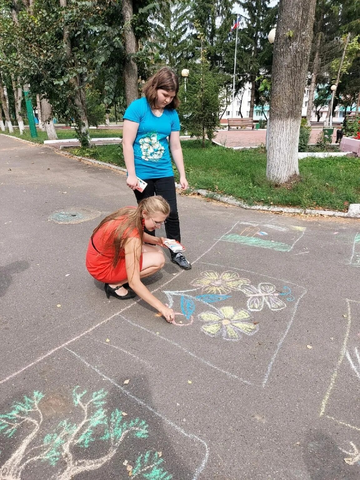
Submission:
[[[205,133],[211,140],[219,125],[221,77],[210,70],[204,56],[200,64],[192,64],[191,69],[186,92],[184,84],[179,92],[181,128],[191,136],[201,136],[204,145]]]

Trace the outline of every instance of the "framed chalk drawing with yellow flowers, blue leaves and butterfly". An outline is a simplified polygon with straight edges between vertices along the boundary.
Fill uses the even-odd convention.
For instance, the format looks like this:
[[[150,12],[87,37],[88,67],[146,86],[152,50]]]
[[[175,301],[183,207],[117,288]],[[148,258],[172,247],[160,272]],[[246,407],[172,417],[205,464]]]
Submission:
[[[200,275],[196,275],[195,269],[190,273],[188,272],[188,276],[190,275],[189,283],[192,286],[197,284],[199,278],[211,281],[216,281],[216,279],[222,278],[223,281],[222,272],[224,271],[230,274],[238,274],[236,278],[232,276],[230,277],[231,280],[235,279],[235,281],[239,279],[248,280],[249,278],[256,280],[254,276],[257,276],[264,280],[274,280],[270,285],[276,286],[277,284],[276,292],[274,292],[272,288],[270,290],[266,289],[266,291],[261,291],[261,296],[259,295],[259,297],[264,300],[266,295],[277,293],[278,295],[275,296],[276,301],[277,299],[281,299],[281,301],[287,305],[287,308],[280,309],[280,304],[277,305],[276,303],[276,305],[273,305],[270,303],[271,307],[276,306],[279,310],[268,310],[266,308],[266,312],[264,308],[262,312],[249,312],[247,311],[247,300],[249,300],[249,297],[240,290],[241,285],[235,285],[238,289],[232,289],[232,295],[213,295],[210,293],[204,293],[203,288],[209,286],[209,282],[204,282],[204,285],[198,288],[163,291],[164,295],[167,297],[167,300],[163,301],[167,301],[168,305],[173,308],[175,312],[181,311],[182,316],[180,316],[180,318],[183,324],[180,325],[186,326],[186,331],[191,330],[190,336],[188,333],[186,334],[184,345],[181,344],[183,339],[182,336],[176,334],[175,330],[167,330],[166,336],[160,335],[155,331],[155,328],[146,328],[144,324],[133,322],[124,316],[122,316],[122,318],[124,318],[129,324],[154,336],[158,341],[168,342],[173,347],[179,348],[187,355],[201,361],[209,368],[214,369],[229,378],[245,384],[264,387],[269,380],[276,356],[288,334],[288,330],[296,315],[299,302],[306,293],[306,290],[298,285],[288,282],[288,286],[283,287],[285,283],[283,279],[279,280],[256,272],[249,272],[239,268],[228,270],[228,267],[218,264],[203,263],[203,265],[205,266],[205,269]],[[205,276],[204,272],[209,271],[211,271],[212,274]],[[217,273],[217,275],[214,275],[214,272]],[[191,275],[195,275],[194,280],[192,280]],[[244,284],[243,280],[241,283],[242,286],[250,285]],[[256,282],[255,285],[259,285],[259,283],[268,284],[269,282],[260,281]],[[216,287],[218,286],[219,285],[216,285]],[[201,295],[199,295],[199,293],[201,293]],[[288,302],[290,303],[288,304]],[[267,307],[265,300],[264,306]],[[282,306],[283,305],[281,305],[281,307]],[[270,314],[271,317],[277,317],[276,322],[271,319]],[[254,317],[254,315],[256,315],[256,317]],[[258,315],[260,315],[259,318],[257,318]],[[186,320],[186,318],[189,320]],[[223,323],[224,320],[225,322]],[[189,325],[184,325],[187,322],[189,322]],[[233,324],[231,324],[231,322],[233,322]],[[176,324],[179,323],[179,320],[176,319]],[[229,330],[226,328],[229,325],[230,327],[235,326],[236,328],[231,328]],[[201,335],[203,334],[209,337],[210,347],[201,340]],[[272,347],[271,349],[267,348],[266,351],[263,350],[265,358],[262,359],[262,365],[264,365],[264,367],[262,366],[259,368],[258,360],[256,360],[256,358],[254,359],[254,356],[252,356],[251,358],[254,359],[252,360],[254,363],[254,370],[252,371],[252,367],[250,367],[250,369],[243,369],[241,366],[241,356],[245,356],[246,359],[248,359],[249,352],[252,352],[253,348],[257,348],[257,341],[254,342],[252,338],[256,338],[260,334],[262,335],[262,338],[259,338],[259,340],[265,342],[271,341],[274,343],[275,348]],[[231,341],[223,342],[223,340]],[[237,347],[237,342],[239,341],[241,348]],[[219,350],[219,348],[221,348],[219,342],[225,346],[225,349]],[[220,351],[221,354],[219,355]],[[258,355],[258,353],[256,355]],[[236,358],[237,361],[234,362],[234,358]],[[250,371],[251,374],[249,374]],[[247,375],[249,375],[249,380],[246,378]]]

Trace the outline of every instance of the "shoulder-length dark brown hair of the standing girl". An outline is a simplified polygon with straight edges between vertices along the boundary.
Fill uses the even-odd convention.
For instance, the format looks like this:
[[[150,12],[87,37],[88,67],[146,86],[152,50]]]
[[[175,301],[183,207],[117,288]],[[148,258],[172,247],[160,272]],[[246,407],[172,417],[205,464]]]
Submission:
[[[172,102],[169,103],[166,108],[178,108],[180,103],[178,98],[179,79],[178,76],[168,67],[160,69],[155,75],[149,78],[144,85],[143,92],[151,108],[156,108],[157,90],[159,88],[161,88],[161,90],[166,90],[167,92],[175,92]]]

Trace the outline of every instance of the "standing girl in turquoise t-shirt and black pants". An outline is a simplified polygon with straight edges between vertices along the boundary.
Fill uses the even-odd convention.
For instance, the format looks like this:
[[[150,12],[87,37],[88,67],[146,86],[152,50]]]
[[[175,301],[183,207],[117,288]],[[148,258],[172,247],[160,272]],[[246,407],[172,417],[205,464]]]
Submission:
[[[167,237],[180,242],[180,223],[176,203],[175,179],[170,152],[180,175],[182,190],[188,188],[180,144],[180,121],[175,108],[179,80],[167,67],[159,70],[144,85],[145,96],[134,100],[124,114],[122,148],[128,171],[127,185],[139,203],[142,199],[161,195],[170,205],[165,230]],[[167,139],[169,138],[169,141]],[[147,186],[136,190],[137,177]],[[155,235],[155,231],[148,232]],[[184,270],[191,264],[181,252],[171,252],[171,261]]]

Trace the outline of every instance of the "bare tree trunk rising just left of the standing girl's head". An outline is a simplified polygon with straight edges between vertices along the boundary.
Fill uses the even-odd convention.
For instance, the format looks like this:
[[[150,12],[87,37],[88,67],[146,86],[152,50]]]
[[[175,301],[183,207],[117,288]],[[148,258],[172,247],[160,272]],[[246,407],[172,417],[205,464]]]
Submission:
[[[129,106],[132,100],[139,98],[138,93],[138,75],[137,65],[132,55],[136,53],[136,39],[132,29],[132,0],[122,0],[122,17],[124,23],[124,40],[125,40],[125,95],[126,104]]]

